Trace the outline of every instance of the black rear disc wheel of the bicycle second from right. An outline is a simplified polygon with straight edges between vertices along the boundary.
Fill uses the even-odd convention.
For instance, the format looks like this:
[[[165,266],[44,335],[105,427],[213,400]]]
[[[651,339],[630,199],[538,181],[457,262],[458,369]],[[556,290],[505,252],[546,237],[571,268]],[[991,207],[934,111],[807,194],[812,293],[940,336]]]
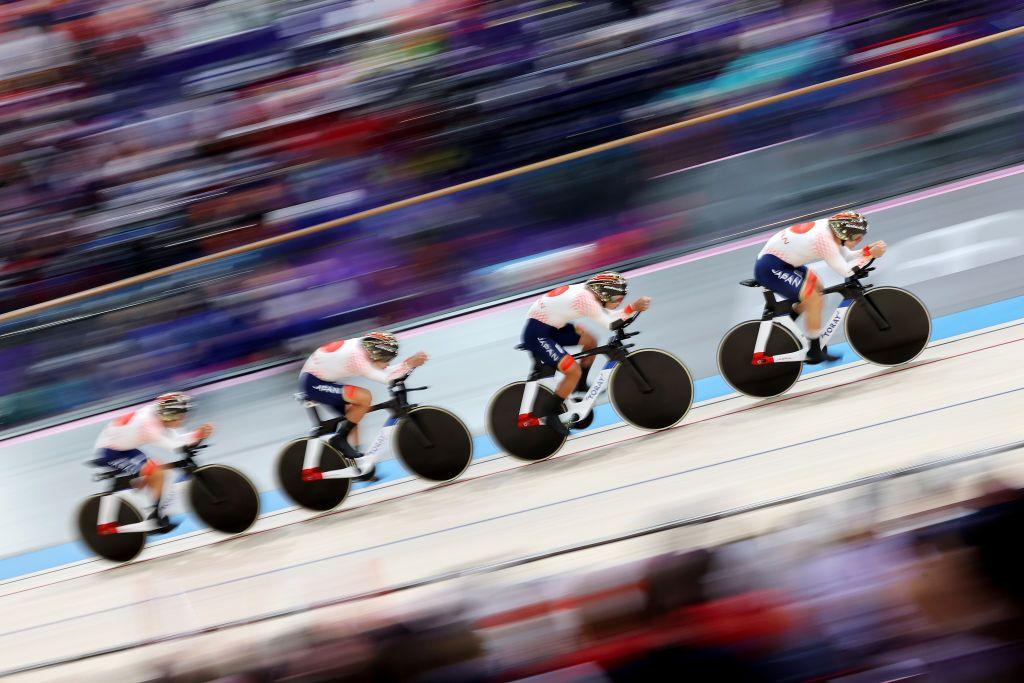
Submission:
[[[565,436],[547,425],[519,426],[519,408],[525,388],[525,382],[513,382],[495,394],[487,409],[487,427],[499,447],[510,456],[520,460],[545,460],[558,453],[565,443]],[[561,403],[551,389],[538,386],[532,414],[547,415],[556,402]],[[564,403],[561,405],[564,411]]]

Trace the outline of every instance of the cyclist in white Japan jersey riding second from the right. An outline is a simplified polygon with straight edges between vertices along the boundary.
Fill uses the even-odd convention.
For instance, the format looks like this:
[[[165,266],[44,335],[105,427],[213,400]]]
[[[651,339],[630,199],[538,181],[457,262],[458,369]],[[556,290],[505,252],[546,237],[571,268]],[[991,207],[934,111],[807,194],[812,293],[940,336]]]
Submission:
[[[588,317],[605,329],[611,329],[616,321],[623,321],[633,313],[650,307],[649,297],[640,297],[621,312],[612,312],[626,299],[626,278],[617,272],[601,272],[582,285],[563,285],[551,290],[532,306],[527,313],[526,327],[522,331],[522,341],[532,356],[546,366],[562,374],[562,380],[555,389],[555,395],[562,400],[579,388],[578,393],[586,393],[587,375],[594,364],[594,356],[577,362],[565,346],[582,346],[589,350],[597,346],[597,340],[573,321]],[[550,415],[519,416],[520,427],[534,427],[542,420],[561,434],[568,428],[559,419],[556,407]]]

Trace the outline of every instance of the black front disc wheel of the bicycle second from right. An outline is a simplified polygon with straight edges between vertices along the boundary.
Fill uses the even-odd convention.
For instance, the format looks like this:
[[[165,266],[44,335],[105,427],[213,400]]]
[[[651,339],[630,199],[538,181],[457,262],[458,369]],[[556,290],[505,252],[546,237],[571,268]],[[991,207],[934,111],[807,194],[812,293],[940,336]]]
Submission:
[[[668,351],[633,351],[611,373],[609,386],[615,412],[640,429],[668,429],[693,404],[693,378],[682,360]]]

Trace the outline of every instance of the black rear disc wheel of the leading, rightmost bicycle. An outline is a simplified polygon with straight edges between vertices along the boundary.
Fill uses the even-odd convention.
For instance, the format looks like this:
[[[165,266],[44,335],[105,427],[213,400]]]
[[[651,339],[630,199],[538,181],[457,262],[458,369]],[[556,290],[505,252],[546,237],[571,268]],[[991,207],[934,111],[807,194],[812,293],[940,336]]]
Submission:
[[[756,398],[768,398],[788,391],[800,379],[804,364],[753,365],[760,327],[761,321],[746,321],[729,330],[718,345],[718,368],[725,381],[736,391]],[[794,353],[802,346],[788,329],[778,323],[771,324],[771,334],[765,347],[767,355]]]

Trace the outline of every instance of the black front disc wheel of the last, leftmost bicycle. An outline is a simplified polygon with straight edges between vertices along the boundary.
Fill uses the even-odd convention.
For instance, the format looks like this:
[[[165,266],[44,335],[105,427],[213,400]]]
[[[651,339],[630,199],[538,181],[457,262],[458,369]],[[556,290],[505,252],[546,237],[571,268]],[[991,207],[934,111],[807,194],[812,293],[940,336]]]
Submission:
[[[256,486],[226,465],[204,465],[193,472],[188,499],[199,518],[223,533],[242,533],[259,517]]]

